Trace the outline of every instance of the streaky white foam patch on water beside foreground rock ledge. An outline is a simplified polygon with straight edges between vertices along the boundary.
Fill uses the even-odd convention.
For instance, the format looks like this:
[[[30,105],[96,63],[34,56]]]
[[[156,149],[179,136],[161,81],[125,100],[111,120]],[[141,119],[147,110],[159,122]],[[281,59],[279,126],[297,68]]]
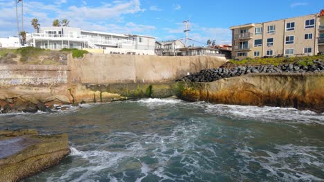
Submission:
[[[192,168],[195,168],[195,172],[201,170],[201,166],[198,163],[200,158],[199,154],[192,157],[188,152],[194,150],[196,147],[193,142],[197,139],[197,135],[201,130],[206,130],[203,123],[191,122],[189,125],[177,125],[173,128],[172,132],[167,135],[161,135],[157,133],[147,134],[134,134],[132,132],[112,132],[111,138],[116,137],[130,137],[134,141],[127,143],[126,148],[119,149],[118,151],[107,151],[107,150],[89,150],[82,151],[78,149],[78,146],[71,147],[71,154],[73,160],[85,160],[86,164],[77,165],[69,168],[56,179],[51,177],[48,181],[89,181],[100,173],[101,170],[113,170],[123,172],[123,177],[116,177],[114,174],[107,174],[106,178],[111,181],[123,181],[124,177],[127,177],[125,171],[132,170],[132,163],[127,164],[130,159],[138,160],[137,165],[141,165],[141,177],[138,177],[136,181],[142,181],[149,174],[161,177],[161,179],[169,179],[171,181],[183,180],[185,177],[194,176]],[[107,139],[107,143],[98,144],[96,148],[105,148],[114,141]],[[80,146],[79,146],[80,147]],[[181,152],[175,148],[181,148]],[[210,149],[211,150],[211,149]],[[156,163],[148,165],[145,161],[141,161],[141,157],[151,156],[156,159]],[[166,172],[168,165],[174,157],[180,157],[181,163],[188,174],[177,175],[170,172]],[[211,162],[211,161],[209,161]],[[134,166],[137,166],[134,165]],[[130,169],[129,169],[130,168]],[[80,176],[76,177],[76,174]],[[135,180],[135,179],[134,179]]]

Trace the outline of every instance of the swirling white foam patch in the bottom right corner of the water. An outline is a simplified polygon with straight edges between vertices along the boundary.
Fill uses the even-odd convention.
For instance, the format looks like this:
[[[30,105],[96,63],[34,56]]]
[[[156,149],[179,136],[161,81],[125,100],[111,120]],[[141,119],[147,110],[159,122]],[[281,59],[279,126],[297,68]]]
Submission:
[[[276,145],[276,152],[268,150],[253,150],[244,146],[237,148],[235,153],[244,167],[240,170],[243,174],[255,174],[249,170],[251,162],[260,164],[267,170],[267,176],[284,181],[324,181],[324,179],[307,172],[307,166],[324,169],[324,147],[299,146],[299,145]],[[264,152],[264,155],[256,154]],[[261,169],[258,169],[260,172]],[[279,175],[281,174],[281,175]]]

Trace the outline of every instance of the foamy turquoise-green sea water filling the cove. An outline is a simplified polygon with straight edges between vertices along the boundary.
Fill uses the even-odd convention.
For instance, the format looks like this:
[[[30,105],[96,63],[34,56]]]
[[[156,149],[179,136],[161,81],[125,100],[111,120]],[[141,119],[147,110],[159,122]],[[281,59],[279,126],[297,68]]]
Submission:
[[[71,154],[25,181],[324,181],[324,114],[142,99],[4,114],[0,129],[69,133]]]

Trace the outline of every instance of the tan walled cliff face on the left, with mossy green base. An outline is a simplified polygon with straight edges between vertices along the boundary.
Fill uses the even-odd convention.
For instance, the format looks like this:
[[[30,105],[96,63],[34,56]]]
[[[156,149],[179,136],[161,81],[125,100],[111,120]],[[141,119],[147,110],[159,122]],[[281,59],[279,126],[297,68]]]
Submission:
[[[175,79],[217,68],[216,57],[87,54],[68,65],[0,65],[0,112],[46,105],[172,96]],[[165,83],[165,84],[163,84]],[[176,87],[175,87],[176,88]]]

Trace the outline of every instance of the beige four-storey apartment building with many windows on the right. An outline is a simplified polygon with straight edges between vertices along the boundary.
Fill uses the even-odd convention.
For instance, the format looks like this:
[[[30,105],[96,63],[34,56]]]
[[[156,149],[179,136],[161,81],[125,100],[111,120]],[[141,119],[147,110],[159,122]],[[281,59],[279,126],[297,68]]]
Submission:
[[[324,10],[264,23],[233,26],[232,57],[296,57],[324,53]]]

